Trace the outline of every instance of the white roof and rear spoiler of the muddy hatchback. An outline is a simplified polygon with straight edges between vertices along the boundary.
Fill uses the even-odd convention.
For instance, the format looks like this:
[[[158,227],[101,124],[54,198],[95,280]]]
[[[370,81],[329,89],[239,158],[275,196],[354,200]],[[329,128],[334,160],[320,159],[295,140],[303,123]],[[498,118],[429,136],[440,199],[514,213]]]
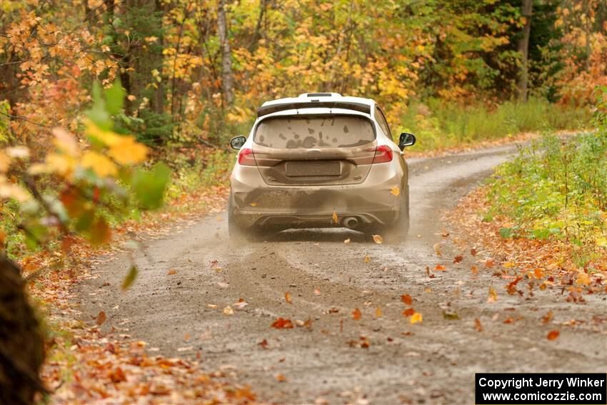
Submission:
[[[272,114],[277,111],[287,109],[305,109],[305,108],[339,108],[352,109],[371,114],[371,106],[375,101],[363,99],[361,97],[342,96],[338,93],[304,93],[299,97],[288,97],[266,101],[257,109],[258,116]]]

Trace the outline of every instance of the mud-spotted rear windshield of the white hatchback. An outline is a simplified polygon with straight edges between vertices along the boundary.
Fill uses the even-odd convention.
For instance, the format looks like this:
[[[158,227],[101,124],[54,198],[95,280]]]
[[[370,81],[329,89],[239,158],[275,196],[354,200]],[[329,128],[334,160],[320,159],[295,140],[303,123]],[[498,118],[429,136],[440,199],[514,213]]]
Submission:
[[[270,148],[345,148],[375,139],[371,120],[363,116],[280,116],[264,119],[254,141]]]

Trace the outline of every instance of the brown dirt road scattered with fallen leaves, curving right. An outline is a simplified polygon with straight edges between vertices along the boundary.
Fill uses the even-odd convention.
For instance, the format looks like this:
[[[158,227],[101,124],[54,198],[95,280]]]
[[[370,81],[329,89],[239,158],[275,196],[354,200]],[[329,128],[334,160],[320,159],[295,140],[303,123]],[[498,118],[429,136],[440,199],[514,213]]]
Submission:
[[[435,254],[445,227],[441,210],[511,151],[411,159],[411,232],[398,246],[346,230],[293,231],[234,245],[225,212],[175,229],[146,242],[129,291],[120,290],[128,261],[104,259],[79,289],[84,319],[102,309],[105,328],[168,356],[200,352],[209,371],[233,366],[259,399],[281,404],[473,404],[475,372],[606,372],[604,295],[585,296],[586,304],[566,302],[560,289],[510,296],[509,280],[493,276],[495,268],[479,265],[478,276],[471,274],[483,252],[464,253],[453,264],[459,253],[448,242],[453,234],[443,257]],[[428,277],[426,266],[437,264],[447,270]],[[494,303],[487,302],[491,284],[498,292]],[[407,308],[401,294],[413,297],[422,324],[411,325],[401,314]],[[241,309],[234,306],[239,299],[247,303]],[[224,314],[226,306],[234,314]],[[358,321],[351,316],[356,308]],[[548,310],[553,321],[542,324]],[[459,319],[445,319],[443,311]],[[273,329],[278,316],[313,322],[309,329]],[[504,324],[508,317],[514,321]],[[475,328],[477,318],[483,331]],[[583,323],[563,325],[572,319]],[[561,332],[555,341],[546,339],[551,330]]]

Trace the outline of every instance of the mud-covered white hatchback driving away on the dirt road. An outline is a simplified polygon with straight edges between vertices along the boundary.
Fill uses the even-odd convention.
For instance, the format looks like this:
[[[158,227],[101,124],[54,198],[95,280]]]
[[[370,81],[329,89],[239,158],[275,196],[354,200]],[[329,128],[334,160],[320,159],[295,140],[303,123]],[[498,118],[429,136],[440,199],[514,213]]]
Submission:
[[[378,231],[405,216],[408,226],[407,167],[376,111],[372,100],[338,94],[264,104],[231,176],[231,234]]]

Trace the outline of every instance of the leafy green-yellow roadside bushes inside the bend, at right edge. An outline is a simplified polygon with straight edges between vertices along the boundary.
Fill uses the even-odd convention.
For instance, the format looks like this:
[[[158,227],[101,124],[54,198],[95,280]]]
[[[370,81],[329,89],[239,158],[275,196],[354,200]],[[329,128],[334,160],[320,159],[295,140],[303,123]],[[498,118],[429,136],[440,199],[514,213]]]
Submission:
[[[544,136],[496,170],[484,218],[512,221],[499,229],[503,238],[566,242],[573,263],[591,272],[607,255],[607,88],[600,90],[593,131]]]

